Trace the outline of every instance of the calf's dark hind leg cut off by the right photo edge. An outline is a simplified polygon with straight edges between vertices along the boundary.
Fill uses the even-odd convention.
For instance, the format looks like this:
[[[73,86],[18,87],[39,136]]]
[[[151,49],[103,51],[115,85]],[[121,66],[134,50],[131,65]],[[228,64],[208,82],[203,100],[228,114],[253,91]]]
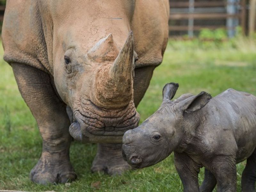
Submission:
[[[255,191],[256,181],[256,150],[247,159],[246,166],[242,174],[242,191],[253,192]]]

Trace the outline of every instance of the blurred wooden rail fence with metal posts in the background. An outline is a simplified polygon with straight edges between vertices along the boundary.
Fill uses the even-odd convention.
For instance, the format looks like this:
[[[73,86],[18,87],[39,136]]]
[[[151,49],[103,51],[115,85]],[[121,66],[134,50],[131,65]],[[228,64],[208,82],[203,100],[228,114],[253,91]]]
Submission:
[[[239,2],[232,0],[205,0],[204,2],[196,0],[187,0],[187,2],[170,0],[170,9],[170,31],[188,31],[188,35],[190,32],[193,36],[195,31],[200,31],[203,28],[224,28],[230,32],[235,31],[236,26],[240,25],[244,34],[246,33],[246,0],[240,0]],[[215,10],[215,12],[210,12],[209,10]],[[195,25],[195,20],[200,20],[204,25],[198,24],[200,22],[197,22],[197,25]],[[226,25],[223,25],[224,23],[216,24],[216,22],[212,22],[213,20],[224,20]],[[232,35],[234,32],[229,34]]]

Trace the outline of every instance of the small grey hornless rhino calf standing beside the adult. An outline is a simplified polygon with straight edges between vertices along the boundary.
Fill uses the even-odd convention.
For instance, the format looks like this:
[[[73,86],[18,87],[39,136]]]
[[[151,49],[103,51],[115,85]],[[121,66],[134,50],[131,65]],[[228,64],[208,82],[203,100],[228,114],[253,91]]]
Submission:
[[[236,163],[247,159],[242,191],[255,191],[256,97],[234,89],[212,98],[201,92],[171,99],[179,85],[166,84],[161,107],[125,132],[123,157],[135,168],[151,166],[174,151],[184,191],[236,191]],[[198,173],[205,167],[199,189]]]

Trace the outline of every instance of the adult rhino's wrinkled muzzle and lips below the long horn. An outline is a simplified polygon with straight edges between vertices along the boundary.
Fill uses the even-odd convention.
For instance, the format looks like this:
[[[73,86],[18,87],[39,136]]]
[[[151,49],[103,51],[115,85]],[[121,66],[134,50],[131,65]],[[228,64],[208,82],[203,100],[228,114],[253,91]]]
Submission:
[[[133,101],[124,108],[105,109],[95,106],[90,100],[83,100],[81,107],[74,110],[74,123],[70,125],[69,131],[72,135],[76,130],[78,140],[93,136],[121,138],[124,132],[136,128],[139,121],[140,115]]]

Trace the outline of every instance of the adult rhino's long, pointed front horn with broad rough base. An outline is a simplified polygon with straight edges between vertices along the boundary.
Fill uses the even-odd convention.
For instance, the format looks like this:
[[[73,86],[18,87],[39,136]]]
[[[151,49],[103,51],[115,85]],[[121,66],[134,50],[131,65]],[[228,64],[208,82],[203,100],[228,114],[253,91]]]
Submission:
[[[103,108],[127,106],[133,98],[133,70],[133,34],[130,32],[114,63],[98,71],[91,100]]]

